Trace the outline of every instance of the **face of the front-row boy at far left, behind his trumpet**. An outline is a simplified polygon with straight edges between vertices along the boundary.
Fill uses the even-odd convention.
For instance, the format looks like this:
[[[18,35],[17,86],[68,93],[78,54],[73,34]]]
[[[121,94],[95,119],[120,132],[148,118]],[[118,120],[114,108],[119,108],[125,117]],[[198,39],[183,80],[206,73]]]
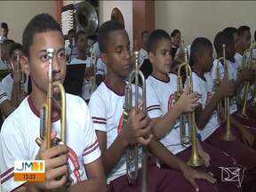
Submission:
[[[46,50],[54,50],[52,60],[52,80],[64,82],[66,75],[66,57],[64,38],[60,31],[47,31],[37,33],[29,47],[29,58],[25,64],[25,71],[32,80],[33,92],[47,93],[49,59]]]

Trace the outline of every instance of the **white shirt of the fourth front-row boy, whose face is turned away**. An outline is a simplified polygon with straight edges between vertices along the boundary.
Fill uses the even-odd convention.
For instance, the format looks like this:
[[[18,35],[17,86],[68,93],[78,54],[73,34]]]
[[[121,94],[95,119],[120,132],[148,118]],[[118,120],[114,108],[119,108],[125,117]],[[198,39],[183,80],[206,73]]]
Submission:
[[[202,108],[206,107],[207,103],[212,99],[212,89],[213,89],[213,81],[212,77],[209,73],[204,74],[205,80],[200,78],[196,75],[196,73],[192,73],[193,78],[193,89],[194,92],[197,92],[200,96],[200,99],[198,102],[202,105]],[[216,110],[214,110],[212,116],[208,120],[207,124],[204,126],[203,130],[197,129],[197,132],[201,135],[201,139],[205,140],[210,135],[212,135],[213,132],[220,126],[220,123],[218,122],[218,116]]]

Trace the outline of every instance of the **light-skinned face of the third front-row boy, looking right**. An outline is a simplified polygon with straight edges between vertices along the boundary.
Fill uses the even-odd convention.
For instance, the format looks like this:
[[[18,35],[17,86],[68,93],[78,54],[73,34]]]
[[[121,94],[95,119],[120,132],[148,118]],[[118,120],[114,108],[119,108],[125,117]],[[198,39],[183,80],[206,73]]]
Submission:
[[[149,60],[157,72],[164,74],[170,72],[172,65],[171,47],[171,40],[163,38],[157,42],[156,52],[149,52]]]

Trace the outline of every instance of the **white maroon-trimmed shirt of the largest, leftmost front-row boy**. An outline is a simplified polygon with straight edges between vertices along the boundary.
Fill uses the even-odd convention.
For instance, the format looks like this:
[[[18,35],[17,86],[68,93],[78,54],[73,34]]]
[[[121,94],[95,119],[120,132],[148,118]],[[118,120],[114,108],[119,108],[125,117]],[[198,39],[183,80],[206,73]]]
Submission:
[[[100,147],[92,124],[89,108],[83,99],[66,94],[68,164],[72,185],[86,180],[84,164],[91,164],[100,157]],[[52,130],[60,135],[60,116],[53,119]],[[0,134],[0,170],[4,191],[11,191],[22,185],[14,181],[15,160],[33,160],[39,147],[36,138],[40,136],[40,118],[31,97],[28,96],[19,108],[6,118]]]

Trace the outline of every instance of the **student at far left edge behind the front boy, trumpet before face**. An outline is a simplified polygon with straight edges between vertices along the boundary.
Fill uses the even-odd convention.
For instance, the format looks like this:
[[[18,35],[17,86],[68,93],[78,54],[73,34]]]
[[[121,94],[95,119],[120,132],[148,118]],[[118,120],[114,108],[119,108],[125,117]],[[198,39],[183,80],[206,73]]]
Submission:
[[[0,85],[0,109],[5,118],[20,105],[28,92],[28,76],[23,74],[20,63],[17,63],[17,52],[21,59],[23,55],[21,44],[12,44],[9,57],[13,72],[5,76]],[[20,71],[18,71],[18,65],[20,65]]]

